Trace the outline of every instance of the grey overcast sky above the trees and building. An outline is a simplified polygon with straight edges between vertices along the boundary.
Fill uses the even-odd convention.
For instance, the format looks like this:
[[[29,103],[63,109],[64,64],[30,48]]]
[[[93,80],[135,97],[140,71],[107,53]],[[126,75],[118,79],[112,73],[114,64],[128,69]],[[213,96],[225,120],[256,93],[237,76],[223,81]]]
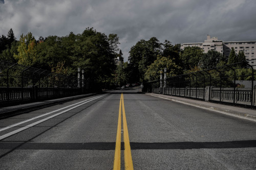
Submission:
[[[117,34],[124,61],[140,39],[173,44],[256,40],[255,0],[0,0],[0,35],[19,39],[82,33],[87,27]]]

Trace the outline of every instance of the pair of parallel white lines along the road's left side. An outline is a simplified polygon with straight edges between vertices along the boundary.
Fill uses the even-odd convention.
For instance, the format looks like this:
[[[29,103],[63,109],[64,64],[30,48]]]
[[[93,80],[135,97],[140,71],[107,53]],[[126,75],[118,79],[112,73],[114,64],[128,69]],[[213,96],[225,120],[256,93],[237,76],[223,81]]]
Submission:
[[[104,94],[104,95],[108,95],[108,94],[109,94],[109,93]],[[54,114],[54,115],[51,115],[51,116],[49,116],[49,117],[46,117],[46,118],[41,119],[41,120],[38,120],[37,122],[32,123],[32,124],[30,124],[30,125],[28,125],[28,126],[25,126],[25,127],[23,127],[23,128],[19,128],[19,129],[15,130],[15,131],[12,131],[12,132],[10,132],[10,133],[7,133],[7,134],[5,134],[5,135],[2,135],[2,136],[0,136],[0,140],[2,140],[2,139],[4,139],[4,138],[7,138],[7,137],[9,137],[9,136],[11,136],[11,135],[13,135],[13,134],[18,133],[18,132],[21,132],[21,131],[23,131],[23,130],[25,130],[25,129],[28,129],[28,128],[30,128],[30,127],[33,127],[33,126],[35,126],[35,125],[37,125],[37,124],[40,124],[40,123],[42,123],[42,122],[45,122],[46,120],[48,120],[48,119],[50,119],[50,118],[53,118],[53,117],[56,117],[56,116],[58,116],[58,115],[60,115],[60,114],[62,114],[62,113],[68,112],[68,111],[70,111],[70,110],[72,110],[72,109],[74,109],[74,108],[77,108],[77,107],[79,107],[79,106],[81,106],[81,105],[84,105],[84,104],[86,104],[86,103],[89,103],[89,102],[91,102],[91,101],[93,101],[93,100],[95,100],[95,99],[101,98],[101,97],[104,96],[104,95],[100,95],[100,96],[97,96],[97,97],[95,97],[95,98],[91,98],[91,99],[85,100],[85,101],[87,101],[87,102],[82,101],[82,102],[84,102],[84,103],[78,102],[78,103],[76,103],[76,104],[79,104],[79,103],[81,103],[81,104],[79,104],[79,105],[77,105],[77,106],[74,106],[74,105],[76,105],[76,104],[70,105],[70,106],[74,106],[74,107],[69,108],[69,109],[67,109],[67,110],[63,110],[63,111],[61,111],[61,112],[59,112],[59,113],[56,113],[56,114]],[[70,107],[70,106],[67,106],[67,107]],[[62,108],[62,109],[65,109],[65,108],[67,108],[67,107],[64,107],[64,108]],[[55,111],[46,113],[46,114],[44,114],[44,115],[47,115],[47,114],[50,114],[50,113],[53,113],[53,112],[56,112],[56,111],[59,111],[59,110],[62,110],[62,109],[58,109],[58,110],[55,110]],[[8,126],[8,127],[6,127],[6,128],[3,128],[3,129],[6,130],[6,129],[12,128],[12,127],[14,127],[14,126],[17,126],[17,125],[20,125],[20,124],[24,124],[24,123],[26,123],[26,122],[29,122],[29,121],[31,121],[31,120],[33,120],[33,119],[35,119],[35,118],[38,118],[38,117],[41,117],[41,116],[44,116],[44,115],[40,115],[40,116],[33,117],[33,118],[31,118],[31,119],[28,119],[28,120],[25,120],[25,121],[23,121],[23,122],[20,122],[20,123],[17,123],[17,124]],[[1,129],[1,131],[3,131],[3,130]]]

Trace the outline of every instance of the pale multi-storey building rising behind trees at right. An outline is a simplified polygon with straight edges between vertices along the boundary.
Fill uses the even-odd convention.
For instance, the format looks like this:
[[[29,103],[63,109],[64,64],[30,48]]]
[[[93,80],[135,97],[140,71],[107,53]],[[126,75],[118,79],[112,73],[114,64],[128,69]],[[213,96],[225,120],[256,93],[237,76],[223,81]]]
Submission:
[[[227,41],[218,40],[217,37],[211,37],[207,35],[207,39],[204,42],[196,43],[182,43],[181,50],[186,46],[198,46],[202,48],[204,53],[207,53],[209,50],[217,51],[224,54],[226,57],[229,56],[231,48],[234,48],[236,54],[239,51],[243,51],[246,57],[246,60],[256,59],[254,55],[254,49],[256,50],[256,41]]]

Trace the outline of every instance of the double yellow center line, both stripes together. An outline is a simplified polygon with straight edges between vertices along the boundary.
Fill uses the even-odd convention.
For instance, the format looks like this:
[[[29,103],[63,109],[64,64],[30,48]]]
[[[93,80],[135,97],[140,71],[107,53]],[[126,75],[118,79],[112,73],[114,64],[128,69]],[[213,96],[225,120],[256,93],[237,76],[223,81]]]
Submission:
[[[114,170],[120,170],[121,168],[121,114],[123,113],[123,141],[124,141],[124,167],[125,170],[133,170],[133,160],[129,141],[129,134],[124,110],[123,93],[121,94],[116,134],[116,150],[114,160]]]

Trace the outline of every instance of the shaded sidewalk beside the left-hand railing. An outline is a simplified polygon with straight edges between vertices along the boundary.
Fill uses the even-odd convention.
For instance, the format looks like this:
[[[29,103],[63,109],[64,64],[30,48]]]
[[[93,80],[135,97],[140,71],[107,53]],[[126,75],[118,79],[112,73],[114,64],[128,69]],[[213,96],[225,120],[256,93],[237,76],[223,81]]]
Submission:
[[[23,114],[26,112],[46,108],[49,106],[69,102],[76,99],[85,98],[87,96],[95,95],[96,93],[88,93],[88,94],[82,94],[82,95],[75,95],[75,96],[69,96],[66,98],[59,98],[59,99],[53,99],[48,101],[40,101],[40,102],[34,102],[34,103],[27,103],[23,105],[16,105],[16,106],[9,106],[9,107],[2,107],[0,108],[0,119]]]

